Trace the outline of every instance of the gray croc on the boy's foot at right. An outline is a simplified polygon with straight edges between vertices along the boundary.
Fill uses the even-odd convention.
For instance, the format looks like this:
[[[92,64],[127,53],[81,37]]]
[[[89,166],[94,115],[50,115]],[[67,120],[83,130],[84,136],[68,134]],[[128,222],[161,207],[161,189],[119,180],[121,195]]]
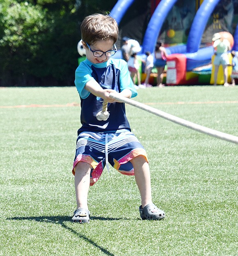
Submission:
[[[144,208],[140,205],[139,211],[142,219],[160,220],[165,217],[165,212],[158,209],[153,203],[149,203]]]

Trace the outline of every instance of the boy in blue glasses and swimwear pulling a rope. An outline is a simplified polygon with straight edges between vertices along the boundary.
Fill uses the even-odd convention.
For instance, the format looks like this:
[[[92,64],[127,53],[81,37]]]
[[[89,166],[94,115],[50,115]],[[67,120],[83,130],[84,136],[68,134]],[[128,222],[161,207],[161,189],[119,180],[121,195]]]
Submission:
[[[127,63],[112,59],[117,48],[118,26],[109,15],[93,14],[81,24],[82,45],[86,60],[76,69],[75,85],[81,100],[81,123],[73,163],[77,210],[72,221],[89,222],[87,206],[89,185],[100,177],[110,163],[119,172],[135,175],[141,195],[142,219],[163,219],[165,213],[151,200],[151,183],[146,151],[130,131],[125,115],[125,104],[109,97],[117,92],[124,97],[135,97],[137,92],[130,78]],[[108,102],[108,120],[96,118]]]

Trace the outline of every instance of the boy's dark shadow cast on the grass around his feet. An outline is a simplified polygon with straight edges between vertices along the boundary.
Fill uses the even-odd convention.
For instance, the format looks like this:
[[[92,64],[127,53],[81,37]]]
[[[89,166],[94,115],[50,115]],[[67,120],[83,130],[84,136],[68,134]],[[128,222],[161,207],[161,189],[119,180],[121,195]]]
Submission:
[[[90,217],[91,219],[97,219],[97,220],[103,220],[103,221],[113,221],[113,220],[121,220],[121,218],[104,218],[104,217]],[[85,235],[79,234],[77,231],[73,230],[73,228],[66,225],[66,222],[71,222],[71,217],[69,216],[38,216],[38,217],[13,217],[13,218],[7,218],[9,220],[32,220],[32,221],[39,221],[39,222],[48,222],[48,223],[54,223],[59,224],[63,228],[66,228],[67,230],[71,231],[73,234],[77,235],[79,238],[85,240],[86,242],[89,242],[94,247],[100,249],[104,254],[109,256],[114,256],[110,251],[107,249],[101,247],[99,244],[91,240],[90,238],[87,238]],[[76,223],[76,225],[88,225],[88,224],[79,224]]]

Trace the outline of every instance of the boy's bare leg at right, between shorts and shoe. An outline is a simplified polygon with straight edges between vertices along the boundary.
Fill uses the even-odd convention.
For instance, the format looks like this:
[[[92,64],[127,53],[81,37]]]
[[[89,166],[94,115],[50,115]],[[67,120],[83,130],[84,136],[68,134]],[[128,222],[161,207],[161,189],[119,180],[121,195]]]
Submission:
[[[144,207],[145,205],[152,203],[149,164],[142,155],[133,158],[130,162],[134,168],[135,181],[140,191],[142,207]]]

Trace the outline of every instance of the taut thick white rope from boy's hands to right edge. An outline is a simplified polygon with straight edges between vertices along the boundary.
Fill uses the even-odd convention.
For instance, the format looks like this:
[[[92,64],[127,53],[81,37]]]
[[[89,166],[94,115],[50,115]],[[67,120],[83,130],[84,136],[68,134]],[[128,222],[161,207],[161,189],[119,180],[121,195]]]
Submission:
[[[183,125],[187,128],[190,128],[190,129],[193,129],[195,131],[199,131],[201,133],[204,133],[204,134],[208,134],[210,136],[213,136],[213,137],[216,137],[216,138],[220,138],[224,141],[229,141],[231,143],[235,143],[235,144],[238,144],[238,137],[237,136],[233,136],[233,135],[230,135],[230,134],[226,134],[224,132],[221,132],[221,131],[216,131],[216,130],[213,130],[213,129],[210,129],[210,128],[207,128],[207,127],[204,127],[204,126],[201,126],[201,125],[197,125],[193,122],[189,122],[187,120],[184,120],[182,118],[178,118],[174,115],[170,115],[168,113],[165,113],[163,111],[160,111],[156,108],[152,108],[150,106],[146,106],[145,104],[142,104],[140,102],[137,102],[137,101],[134,101],[132,99],[128,99],[126,97],[122,97],[118,94],[115,94],[113,92],[110,93],[109,95],[110,98],[112,99],[117,99],[118,101],[121,101],[121,102],[124,102],[124,103],[127,103],[131,106],[135,106],[137,108],[140,108],[144,111],[147,111],[149,113],[152,113],[154,115],[158,115],[160,116],[161,118],[165,118],[169,121],[172,121],[178,125]]]

